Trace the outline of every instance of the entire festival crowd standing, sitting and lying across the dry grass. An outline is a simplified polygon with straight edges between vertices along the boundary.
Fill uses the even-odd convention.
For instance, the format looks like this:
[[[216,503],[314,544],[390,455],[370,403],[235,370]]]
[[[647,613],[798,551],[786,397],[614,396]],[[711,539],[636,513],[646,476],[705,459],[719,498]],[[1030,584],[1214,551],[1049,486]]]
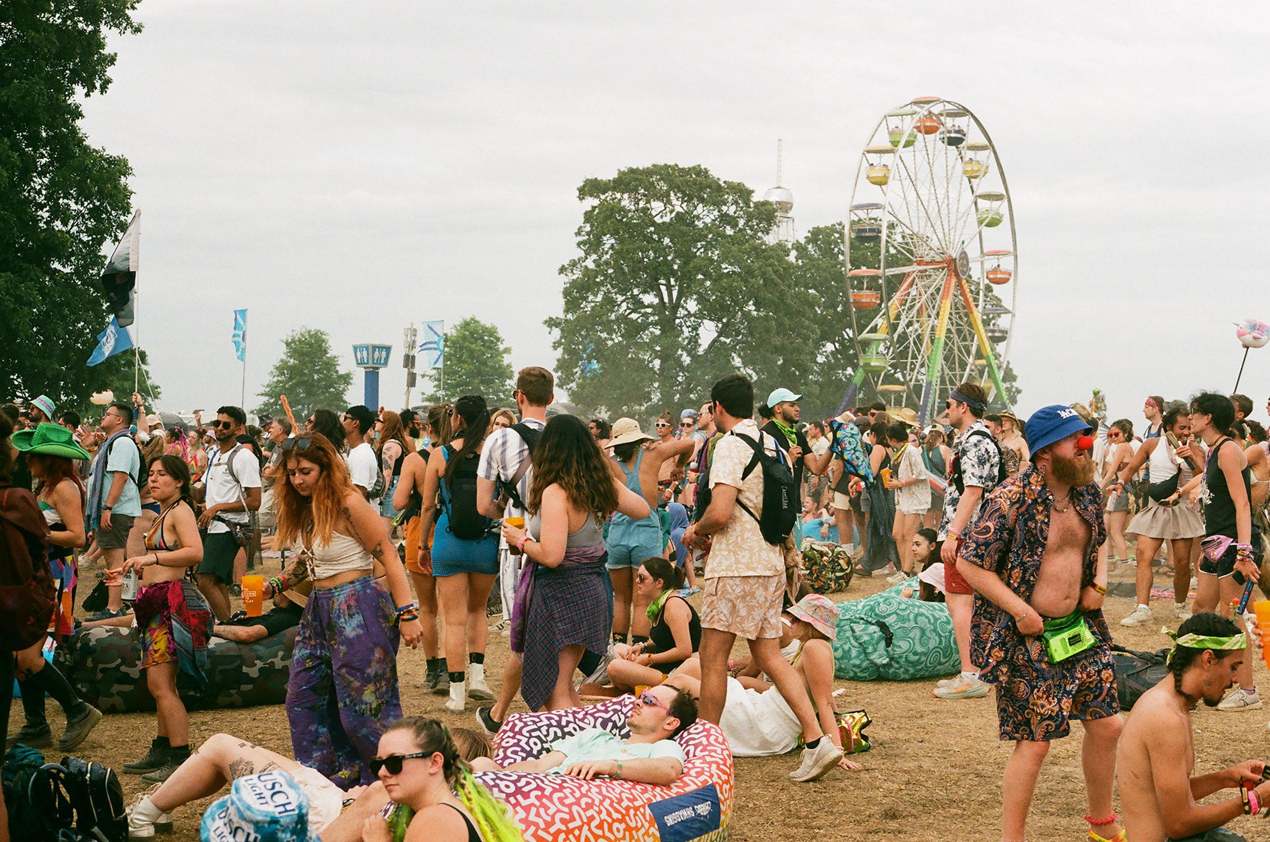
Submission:
[[[514,408],[464,395],[253,425],[239,406],[165,424],[138,394],[93,419],[43,395],[4,406],[0,626],[14,657],[0,683],[18,679],[24,716],[10,733],[4,702],[8,745],[84,743],[102,711],[46,658],[48,641],[122,626],[156,706],[149,747],[121,768],[154,785],[128,808],[133,839],[226,785],[203,838],[292,838],[253,825],[250,787],[265,784],[307,805],[291,831],[326,842],[521,838],[474,772],[672,785],[687,762],[677,738],[698,720],[737,757],[801,747],[795,782],[848,773],[859,756],[833,690],[842,612],[803,563],[829,545],[850,575],[946,607],[960,671],[931,692],[996,692],[998,735],[1013,743],[1001,838],[1026,838],[1049,745],[1073,720],[1093,842],[1238,839],[1222,825],[1270,806],[1260,761],[1191,777],[1191,709],[1261,707],[1246,611],[1270,446],[1248,398],[1151,396],[1142,422],[1107,422],[1095,390],[1020,419],[966,382],[923,428],[881,403],[804,422],[795,391],[756,400],[730,375],[649,433],[634,418],[555,413],[554,392],[552,375],[528,367]],[[1121,622],[1135,626],[1158,622],[1156,568],[1181,625],[1167,677],[1125,724],[1109,571],[1134,578]],[[272,607],[234,611],[260,598]],[[485,671],[493,616],[494,640],[508,636],[500,676]],[[229,734],[194,751],[178,674],[206,686],[213,638],[288,629],[292,757]],[[423,650],[424,690],[451,712],[471,707],[474,728],[403,710],[401,644]],[[517,697],[559,711],[625,693],[629,737],[587,729],[533,759],[491,758]],[[56,737],[46,697],[65,712]],[[1224,789],[1238,795],[1199,803]]]

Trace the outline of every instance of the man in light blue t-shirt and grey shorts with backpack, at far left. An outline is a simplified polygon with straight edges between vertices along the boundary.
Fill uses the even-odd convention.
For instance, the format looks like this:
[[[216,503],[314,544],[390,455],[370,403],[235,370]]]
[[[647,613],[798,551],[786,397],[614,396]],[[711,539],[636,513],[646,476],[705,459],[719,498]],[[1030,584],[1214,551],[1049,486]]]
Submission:
[[[117,400],[102,413],[105,441],[97,448],[88,480],[88,531],[102,550],[107,570],[123,566],[132,522],[141,517],[141,450],[132,441],[132,406]],[[122,617],[123,588],[108,588],[105,608],[90,620]]]

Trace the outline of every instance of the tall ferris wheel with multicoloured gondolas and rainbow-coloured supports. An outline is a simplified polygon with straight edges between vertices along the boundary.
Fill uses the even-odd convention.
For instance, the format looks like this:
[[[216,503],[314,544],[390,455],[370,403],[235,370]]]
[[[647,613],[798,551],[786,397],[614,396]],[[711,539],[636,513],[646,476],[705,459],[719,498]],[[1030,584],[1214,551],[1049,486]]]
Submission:
[[[843,408],[878,398],[925,424],[965,381],[1008,405],[1015,213],[979,118],[939,97],[886,112],[860,156],[846,237],[860,366]]]

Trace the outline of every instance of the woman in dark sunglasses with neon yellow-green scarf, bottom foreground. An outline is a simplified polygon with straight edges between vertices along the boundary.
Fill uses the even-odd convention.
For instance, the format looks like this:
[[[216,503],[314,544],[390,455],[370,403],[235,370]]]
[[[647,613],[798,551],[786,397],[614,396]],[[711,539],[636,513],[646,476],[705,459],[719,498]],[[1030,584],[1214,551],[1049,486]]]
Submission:
[[[395,810],[413,812],[405,838],[429,842],[516,842],[519,828],[507,805],[472,777],[450,729],[436,719],[409,716],[389,725],[371,768]],[[391,815],[391,814],[390,814]],[[366,819],[362,839],[390,842],[381,815]]]

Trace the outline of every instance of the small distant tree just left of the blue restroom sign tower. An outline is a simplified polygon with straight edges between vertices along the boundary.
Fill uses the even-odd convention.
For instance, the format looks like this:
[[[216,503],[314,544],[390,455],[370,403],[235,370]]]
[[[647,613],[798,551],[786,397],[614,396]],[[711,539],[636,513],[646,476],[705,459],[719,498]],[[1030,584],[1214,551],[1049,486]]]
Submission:
[[[279,395],[287,396],[300,423],[320,406],[342,411],[348,405],[352,385],[353,372],[340,371],[339,357],[331,352],[325,330],[292,330],[282,340],[282,357],[269,371],[269,382],[260,392],[264,403],[255,408],[255,414],[281,415]]]

